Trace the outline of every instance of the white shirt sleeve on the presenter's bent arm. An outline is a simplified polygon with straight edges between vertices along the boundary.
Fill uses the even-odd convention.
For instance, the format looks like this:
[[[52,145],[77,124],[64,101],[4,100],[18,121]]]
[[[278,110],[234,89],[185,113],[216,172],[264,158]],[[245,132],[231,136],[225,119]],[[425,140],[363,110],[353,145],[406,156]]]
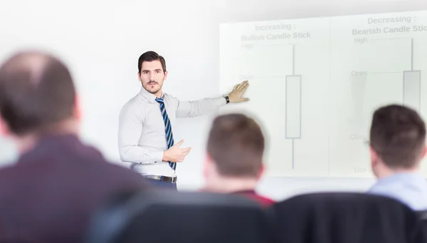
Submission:
[[[123,162],[155,164],[162,162],[163,150],[138,145],[144,125],[144,114],[136,105],[125,105],[119,118],[119,153]]]

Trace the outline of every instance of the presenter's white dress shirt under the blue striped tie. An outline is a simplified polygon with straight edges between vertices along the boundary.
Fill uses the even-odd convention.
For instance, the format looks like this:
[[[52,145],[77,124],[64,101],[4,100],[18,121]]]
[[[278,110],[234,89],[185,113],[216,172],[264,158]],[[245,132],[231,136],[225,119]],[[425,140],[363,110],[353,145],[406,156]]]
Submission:
[[[196,101],[179,101],[172,95],[163,93],[164,106],[172,125],[176,118],[190,118],[209,113],[226,105],[226,99],[205,98]],[[173,176],[169,162],[162,161],[167,150],[163,116],[156,95],[141,87],[141,91],[131,98],[120,111],[119,153],[123,162],[131,162],[131,170],[143,175]],[[175,143],[179,141],[175,140]],[[179,165],[177,165],[178,167]]]

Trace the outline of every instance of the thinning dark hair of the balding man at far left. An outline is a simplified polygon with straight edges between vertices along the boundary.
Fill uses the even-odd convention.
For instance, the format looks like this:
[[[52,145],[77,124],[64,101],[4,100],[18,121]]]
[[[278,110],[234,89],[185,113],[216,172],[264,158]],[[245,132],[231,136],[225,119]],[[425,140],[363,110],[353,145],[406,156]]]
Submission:
[[[46,53],[23,52],[0,67],[0,116],[23,135],[71,118],[75,87],[68,68]]]

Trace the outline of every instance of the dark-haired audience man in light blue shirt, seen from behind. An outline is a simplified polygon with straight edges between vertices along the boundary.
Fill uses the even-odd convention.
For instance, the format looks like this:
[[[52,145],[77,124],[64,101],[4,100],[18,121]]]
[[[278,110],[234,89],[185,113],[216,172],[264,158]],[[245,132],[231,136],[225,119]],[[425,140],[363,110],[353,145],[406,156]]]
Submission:
[[[426,125],[402,105],[375,110],[370,131],[371,167],[378,178],[369,193],[392,197],[412,210],[427,210],[427,182],[420,166],[426,155]]]

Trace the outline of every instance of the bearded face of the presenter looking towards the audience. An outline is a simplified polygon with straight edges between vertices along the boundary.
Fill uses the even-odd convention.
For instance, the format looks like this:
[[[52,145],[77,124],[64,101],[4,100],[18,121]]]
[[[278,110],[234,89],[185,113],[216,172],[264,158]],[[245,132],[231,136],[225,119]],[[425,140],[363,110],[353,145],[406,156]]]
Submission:
[[[163,81],[166,79],[167,72],[163,71],[160,61],[144,61],[138,76],[146,91],[157,97],[162,95]]]

